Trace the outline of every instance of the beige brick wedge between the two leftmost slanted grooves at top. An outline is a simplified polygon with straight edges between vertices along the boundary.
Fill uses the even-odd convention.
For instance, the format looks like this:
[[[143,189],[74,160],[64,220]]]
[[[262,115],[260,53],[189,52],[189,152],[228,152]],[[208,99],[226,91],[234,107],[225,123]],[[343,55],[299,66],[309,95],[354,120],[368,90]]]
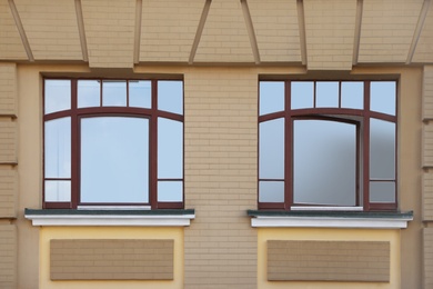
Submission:
[[[82,60],[74,1],[14,2],[36,60]]]

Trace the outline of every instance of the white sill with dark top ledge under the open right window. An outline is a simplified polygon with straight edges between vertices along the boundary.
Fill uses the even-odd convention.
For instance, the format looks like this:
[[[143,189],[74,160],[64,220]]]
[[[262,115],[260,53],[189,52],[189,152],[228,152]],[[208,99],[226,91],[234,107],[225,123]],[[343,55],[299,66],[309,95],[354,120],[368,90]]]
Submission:
[[[404,229],[413,220],[407,212],[262,211],[248,210],[254,228],[366,228]]]

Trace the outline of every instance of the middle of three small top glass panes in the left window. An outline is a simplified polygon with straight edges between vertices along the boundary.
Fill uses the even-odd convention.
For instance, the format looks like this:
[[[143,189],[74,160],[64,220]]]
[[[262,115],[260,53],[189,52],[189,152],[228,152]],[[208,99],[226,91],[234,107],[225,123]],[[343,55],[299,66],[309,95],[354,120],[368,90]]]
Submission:
[[[104,80],[102,82],[102,106],[125,107],[127,106],[127,81]]]

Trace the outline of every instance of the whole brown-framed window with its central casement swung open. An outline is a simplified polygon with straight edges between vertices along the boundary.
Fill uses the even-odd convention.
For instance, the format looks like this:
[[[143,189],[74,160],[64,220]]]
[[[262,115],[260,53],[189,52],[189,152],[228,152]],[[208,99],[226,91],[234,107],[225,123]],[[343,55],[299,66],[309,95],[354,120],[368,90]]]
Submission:
[[[260,81],[260,209],[396,209],[396,81]]]

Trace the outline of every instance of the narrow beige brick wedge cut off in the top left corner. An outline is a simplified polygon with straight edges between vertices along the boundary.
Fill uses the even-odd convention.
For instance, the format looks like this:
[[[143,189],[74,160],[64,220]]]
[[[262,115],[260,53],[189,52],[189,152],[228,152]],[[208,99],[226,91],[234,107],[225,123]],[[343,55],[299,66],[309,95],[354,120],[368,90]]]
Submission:
[[[28,59],[8,1],[0,1],[0,59]]]

